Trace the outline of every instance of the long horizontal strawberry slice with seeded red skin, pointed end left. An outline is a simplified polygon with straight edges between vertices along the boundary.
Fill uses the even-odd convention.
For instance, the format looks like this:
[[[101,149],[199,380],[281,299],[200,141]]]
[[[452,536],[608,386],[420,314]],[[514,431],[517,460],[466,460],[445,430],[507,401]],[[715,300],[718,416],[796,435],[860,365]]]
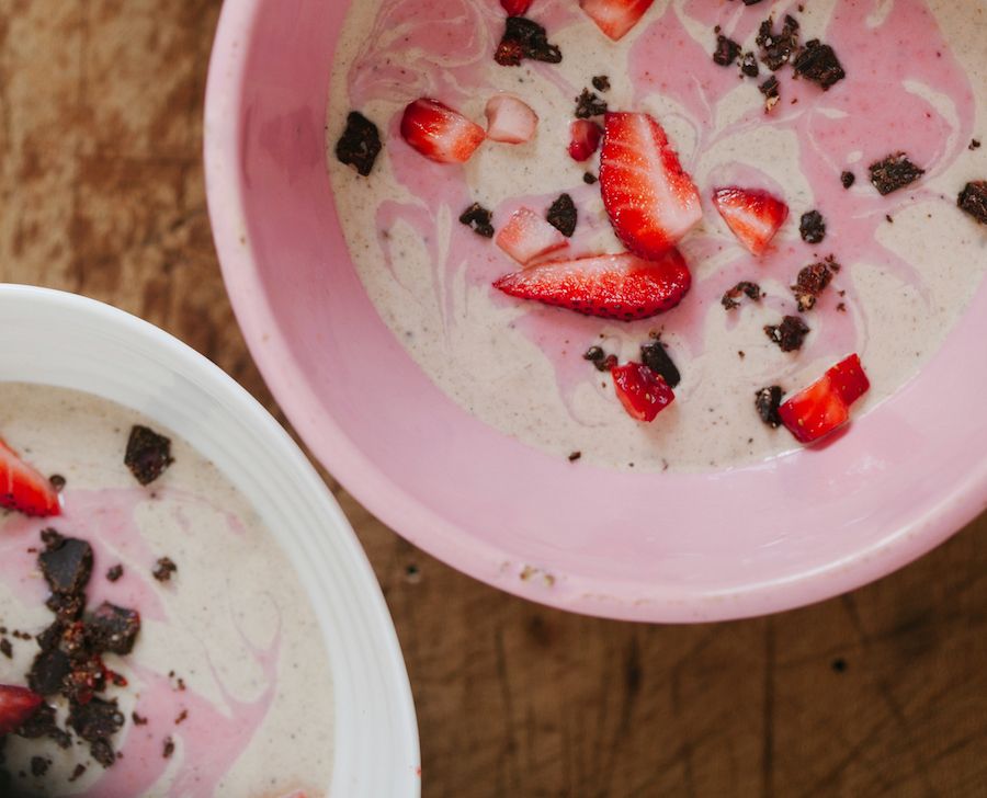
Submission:
[[[678,250],[671,250],[660,261],[626,252],[549,261],[508,274],[494,287],[585,316],[634,321],[676,307],[691,285],[685,260]]]

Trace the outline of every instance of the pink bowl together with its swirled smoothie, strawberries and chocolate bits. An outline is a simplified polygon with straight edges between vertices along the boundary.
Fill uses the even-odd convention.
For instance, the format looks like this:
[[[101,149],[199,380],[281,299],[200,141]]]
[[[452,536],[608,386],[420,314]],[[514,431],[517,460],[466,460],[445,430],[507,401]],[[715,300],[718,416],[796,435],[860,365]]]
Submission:
[[[987,8],[252,0],[209,206],[293,423],[577,612],[789,608],[984,509]]]

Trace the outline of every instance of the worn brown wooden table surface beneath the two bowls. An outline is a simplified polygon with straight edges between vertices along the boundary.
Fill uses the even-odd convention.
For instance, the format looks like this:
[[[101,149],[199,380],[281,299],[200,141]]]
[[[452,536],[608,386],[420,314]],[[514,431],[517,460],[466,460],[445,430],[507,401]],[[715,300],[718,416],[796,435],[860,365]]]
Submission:
[[[219,7],[0,0],[0,278],[143,316],[284,422],[206,215],[201,110]],[[327,480],[397,625],[426,796],[987,795],[987,517],[852,595],[662,628],[497,593]]]

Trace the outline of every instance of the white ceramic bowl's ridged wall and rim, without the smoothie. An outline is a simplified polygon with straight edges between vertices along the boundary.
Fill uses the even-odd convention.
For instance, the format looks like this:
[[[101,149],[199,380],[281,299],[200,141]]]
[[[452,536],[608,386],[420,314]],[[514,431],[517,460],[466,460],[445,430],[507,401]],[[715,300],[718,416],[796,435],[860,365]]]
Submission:
[[[336,703],[329,795],[419,795],[415,707],[384,597],[339,505],[277,422],[205,357],[107,305],[0,285],[0,381],[73,388],[146,413],[194,441],[250,497],[326,637]]]

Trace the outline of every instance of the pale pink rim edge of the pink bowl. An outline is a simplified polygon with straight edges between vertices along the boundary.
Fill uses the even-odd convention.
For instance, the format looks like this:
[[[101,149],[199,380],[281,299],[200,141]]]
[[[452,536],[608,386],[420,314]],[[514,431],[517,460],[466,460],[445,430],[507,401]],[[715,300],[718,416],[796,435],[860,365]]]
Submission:
[[[985,458],[965,480],[943,490],[923,514],[877,544],[825,567],[752,583],[742,590],[656,590],[651,596],[631,598],[622,597],[619,584],[582,579],[580,591],[556,596],[531,582],[499,580],[498,571],[511,559],[509,554],[479,544],[387,479],[331,417],[315,419],[303,412],[311,406],[310,387],[268,301],[256,253],[242,237],[247,213],[240,182],[240,99],[248,53],[242,43],[249,41],[264,1],[224,4],[209,64],[204,136],[206,198],[224,282],[250,353],[298,434],[345,490],[407,540],[457,571],[547,606],[620,620],[690,624],[770,615],[856,590],[919,559],[987,511]]]

